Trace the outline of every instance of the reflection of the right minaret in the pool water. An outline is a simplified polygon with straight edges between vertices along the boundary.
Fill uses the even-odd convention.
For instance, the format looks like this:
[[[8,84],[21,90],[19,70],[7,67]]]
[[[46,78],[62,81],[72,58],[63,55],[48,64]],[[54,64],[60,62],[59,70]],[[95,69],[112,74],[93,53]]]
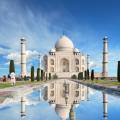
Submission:
[[[107,94],[103,92],[103,118],[107,120],[108,118],[108,98]]]

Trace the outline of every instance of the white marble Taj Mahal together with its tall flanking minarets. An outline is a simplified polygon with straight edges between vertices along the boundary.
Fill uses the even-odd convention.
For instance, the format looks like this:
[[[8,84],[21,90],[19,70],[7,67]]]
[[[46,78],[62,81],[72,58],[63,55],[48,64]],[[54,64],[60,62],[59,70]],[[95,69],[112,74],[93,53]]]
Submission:
[[[77,49],[72,40],[66,35],[62,35],[55,43],[47,55],[43,57],[44,71],[47,75],[57,75],[58,78],[71,78],[78,75],[79,72],[90,69],[89,57]],[[21,76],[27,75],[26,69],[26,40],[21,39]],[[41,59],[39,62],[41,68]],[[108,77],[108,37],[103,38],[103,62],[102,73],[96,73],[96,77]]]

